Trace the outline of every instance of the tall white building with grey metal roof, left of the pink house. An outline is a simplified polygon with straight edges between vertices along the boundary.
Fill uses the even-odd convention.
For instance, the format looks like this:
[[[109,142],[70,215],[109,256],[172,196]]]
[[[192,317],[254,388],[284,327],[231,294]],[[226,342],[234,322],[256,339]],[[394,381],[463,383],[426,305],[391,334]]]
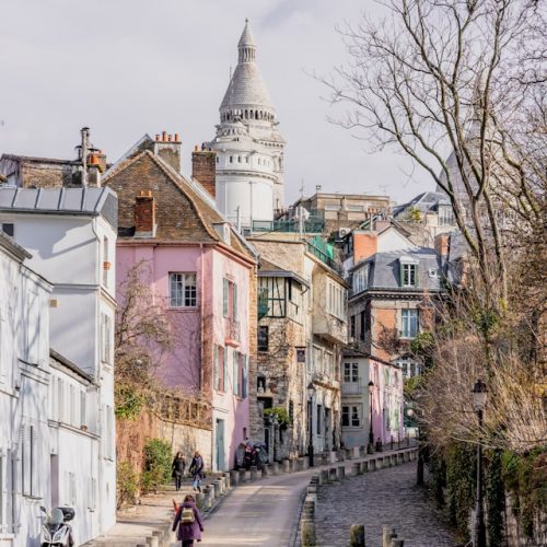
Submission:
[[[50,500],[46,504],[70,502],[82,508],[83,512],[77,512],[73,526],[81,536],[79,542],[83,542],[91,538],[85,537],[89,534],[96,536],[106,532],[116,520],[114,257],[117,198],[107,188],[0,188],[0,222],[8,225],[14,240],[33,255],[28,265],[53,283],[50,347],[65,362],[73,363],[81,371],[79,379],[69,381],[66,370],[55,370],[49,387],[51,400],[49,404],[45,400],[42,410],[46,416],[49,412],[53,428],[48,468],[51,466],[54,473]],[[93,387],[90,384],[85,389],[82,422],[82,411],[78,408],[83,400],[84,380]],[[89,467],[81,465],[84,453],[90,459]],[[68,467],[63,468],[62,462]]]

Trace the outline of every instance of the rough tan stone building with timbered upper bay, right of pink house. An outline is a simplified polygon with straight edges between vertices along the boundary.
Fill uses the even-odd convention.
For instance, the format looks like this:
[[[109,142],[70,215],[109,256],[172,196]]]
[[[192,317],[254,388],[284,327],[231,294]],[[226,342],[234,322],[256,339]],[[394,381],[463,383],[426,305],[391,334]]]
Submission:
[[[263,409],[282,409],[289,421],[278,434],[266,420],[270,454],[277,459],[306,454],[310,429],[315,452],[336,450],[347,286],[334,264],[299,234],[260,234],[251,242],[260,255],[258,403]]]

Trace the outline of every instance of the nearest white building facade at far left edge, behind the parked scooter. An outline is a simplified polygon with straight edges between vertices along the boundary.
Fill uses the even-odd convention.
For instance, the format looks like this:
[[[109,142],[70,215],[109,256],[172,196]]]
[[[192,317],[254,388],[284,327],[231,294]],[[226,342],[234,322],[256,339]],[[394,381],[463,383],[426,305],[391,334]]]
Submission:
[[[39,545],[49,498],[47,397],[51,284],[0,231],[0,545]]]

